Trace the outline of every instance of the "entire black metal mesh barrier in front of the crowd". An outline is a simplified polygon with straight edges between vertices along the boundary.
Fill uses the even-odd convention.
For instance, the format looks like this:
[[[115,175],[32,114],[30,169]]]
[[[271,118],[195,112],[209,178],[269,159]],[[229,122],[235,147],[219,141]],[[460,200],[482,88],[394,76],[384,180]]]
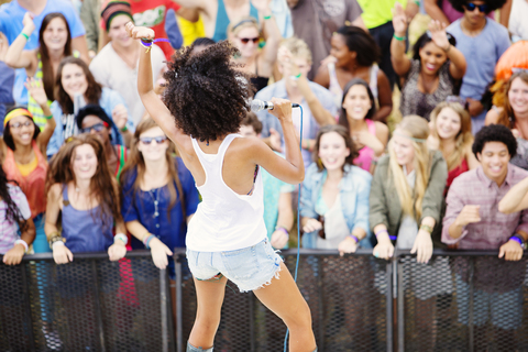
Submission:
[[[408,251],[385,262],[302,250],[298,286],[319,351],[528,351],[528,257],[497,254],[436,250],[424,265]],[[283,255],[293,272],[296,251]],[[167,273],[147,251],[0,264],[0,351],[185,351],[196,292],[185,253],[175,260],[176,328]],[[228,286],[215,350],[283,351],[285,324]]]

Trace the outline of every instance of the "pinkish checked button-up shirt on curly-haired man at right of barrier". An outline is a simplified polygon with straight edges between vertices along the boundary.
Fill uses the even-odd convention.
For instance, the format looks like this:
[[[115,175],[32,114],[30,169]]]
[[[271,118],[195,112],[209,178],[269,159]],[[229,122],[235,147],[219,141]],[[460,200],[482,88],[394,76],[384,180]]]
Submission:
[[[509,215],[498,211],[501,199],[526,177],[528,172],[512,164],[508,164],[508,174],[501,187],[484,174],[482,166],[457,177],[448,193],[442,242],[458,243],[460,250],[498,250],[517,231],[528,232],[528,210]],[[449,227],[466,205],[481,206],[481,221],[469,223],[462,235],[453,239],[449,235]]]

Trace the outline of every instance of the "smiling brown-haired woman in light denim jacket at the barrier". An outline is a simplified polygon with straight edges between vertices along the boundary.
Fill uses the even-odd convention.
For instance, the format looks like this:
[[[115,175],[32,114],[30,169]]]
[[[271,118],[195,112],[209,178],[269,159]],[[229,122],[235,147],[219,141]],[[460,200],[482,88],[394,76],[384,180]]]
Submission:
[[[355,252],[369,240],[369,195],[372,176],[352,161],[358,156],[346,129],[326,125],[316,140],[315,162],[301,191],[304,248]],[[318,235],[319,234],[319,235]]]

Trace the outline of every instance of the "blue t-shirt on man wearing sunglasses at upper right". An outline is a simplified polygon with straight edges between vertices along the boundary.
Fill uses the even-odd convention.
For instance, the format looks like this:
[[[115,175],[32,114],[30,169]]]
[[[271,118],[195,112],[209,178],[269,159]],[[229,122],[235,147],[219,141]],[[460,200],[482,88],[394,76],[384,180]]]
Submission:
[[[468,62],[460,96],[462,98],[482,99],[487,85],[495,75],[495,65],[509,47],[508,30],[494,20],[486,19],[486,25],[477,36],[469,36],[462,32],[462,19],[447,28],[447,32],[457,38],[457,48],[464,54]],[[484,124],[487,111],[473,117],[473,132],[476,133]]]

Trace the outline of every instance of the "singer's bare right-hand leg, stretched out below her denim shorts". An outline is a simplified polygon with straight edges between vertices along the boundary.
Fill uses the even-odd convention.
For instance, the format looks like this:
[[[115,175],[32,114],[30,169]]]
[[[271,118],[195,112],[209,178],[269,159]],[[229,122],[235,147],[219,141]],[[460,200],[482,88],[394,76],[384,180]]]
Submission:
[[[280,278],[273,278],[271,285],[253,293],[288,327],[289,351],[312,352],[316,350],[316,339],[311,330],[310,308],[284,263],[280,263],[279,274]]]

